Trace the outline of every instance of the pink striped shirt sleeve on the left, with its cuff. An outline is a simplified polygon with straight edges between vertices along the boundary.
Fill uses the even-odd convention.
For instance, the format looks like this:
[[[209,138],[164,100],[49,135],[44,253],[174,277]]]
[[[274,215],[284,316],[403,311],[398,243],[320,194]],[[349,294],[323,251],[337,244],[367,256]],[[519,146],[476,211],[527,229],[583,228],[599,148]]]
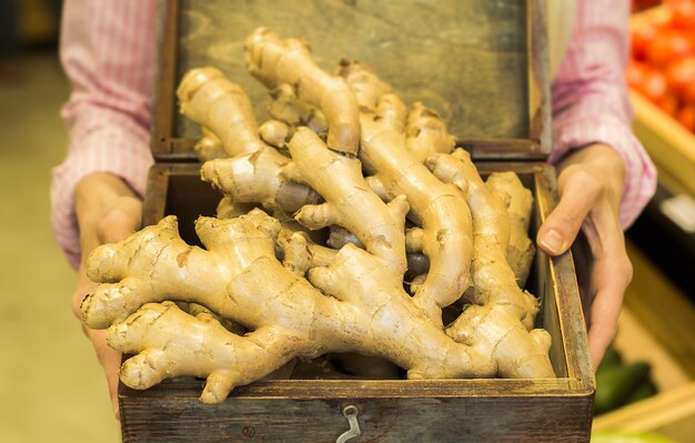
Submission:
[[[154,0],[68,0],[60,57],[72,93],[61,110],[68,153],[53,169],[51,222],[73,268],[80,263],[73,191],[93,172],[122,178],[144,193],[152,164],[150,93]]]

